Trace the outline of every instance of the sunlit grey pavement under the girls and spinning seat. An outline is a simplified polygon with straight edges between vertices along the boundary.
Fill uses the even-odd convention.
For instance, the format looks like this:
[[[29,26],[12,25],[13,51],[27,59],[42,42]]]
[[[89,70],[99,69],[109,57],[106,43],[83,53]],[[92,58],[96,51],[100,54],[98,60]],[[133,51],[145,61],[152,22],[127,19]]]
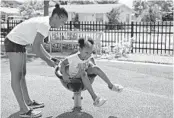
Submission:
[[[2,118],[16,116],[18,105],[10,87],[9,64],[1,60]],[[114,83],[122,84],[122,93],[110,91],[106,84],[96,78],[94,90],[108,101],[101,108],[92,105],[87,91],[82,93],[82,118],[172,118],[173,116],[173,76],[172,66],[133,64],[97,61]],[[40,59],[28,61],[27,84],[31,98],[46,105],[43,118],[63,118],[73,107],[72,93],[66,90],[54,75],[54,69]],[[13,114],[13,115],[12,115]],[[88,116],[88,117],[87,117]],[[89,117],[90,116],[90,117]],[[72,118],[72,114],[70,116]],[[69,117],[64,117],[69,118]]]

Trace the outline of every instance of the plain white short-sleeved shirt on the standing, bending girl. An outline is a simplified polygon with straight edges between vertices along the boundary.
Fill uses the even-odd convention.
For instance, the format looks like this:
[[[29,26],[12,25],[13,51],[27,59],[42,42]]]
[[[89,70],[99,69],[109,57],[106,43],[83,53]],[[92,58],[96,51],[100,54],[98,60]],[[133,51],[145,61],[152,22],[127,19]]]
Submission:
[[[21,45],[32,44],[37,32],[41,33],[45,38],[48,36],[49,29],[49,16],[35,17],[15,26],[7,35],[7,38]]]

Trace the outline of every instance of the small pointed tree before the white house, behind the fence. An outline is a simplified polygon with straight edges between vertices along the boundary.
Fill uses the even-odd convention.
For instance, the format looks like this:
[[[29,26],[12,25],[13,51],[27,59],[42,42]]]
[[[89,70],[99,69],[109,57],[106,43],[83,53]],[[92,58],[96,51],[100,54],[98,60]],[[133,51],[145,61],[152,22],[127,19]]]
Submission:
[[[113,8],[109,13],[107,13],[107,17],[109,20],[107,29],[115,29],[116,27],[115,25],[120,23],[119,21],[120,13],[121,13],[120,8]]]

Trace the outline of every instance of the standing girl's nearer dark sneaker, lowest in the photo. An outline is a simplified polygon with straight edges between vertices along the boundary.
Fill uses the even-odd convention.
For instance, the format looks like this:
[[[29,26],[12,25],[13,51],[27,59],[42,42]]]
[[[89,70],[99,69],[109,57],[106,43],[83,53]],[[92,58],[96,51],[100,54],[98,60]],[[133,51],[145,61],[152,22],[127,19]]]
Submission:
[[[26,113],[22,113],[19,115],[22,118],[38,118],[42,116],[41,111],[29,110]]]

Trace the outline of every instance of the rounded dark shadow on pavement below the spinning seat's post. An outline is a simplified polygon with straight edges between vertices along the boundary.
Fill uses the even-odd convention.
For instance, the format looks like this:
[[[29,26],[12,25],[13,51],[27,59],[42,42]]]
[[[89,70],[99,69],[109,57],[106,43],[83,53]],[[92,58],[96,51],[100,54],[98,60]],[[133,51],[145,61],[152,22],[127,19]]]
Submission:
[[[93,116],[86,112],[65,112],[56,118],[93,118]]]

